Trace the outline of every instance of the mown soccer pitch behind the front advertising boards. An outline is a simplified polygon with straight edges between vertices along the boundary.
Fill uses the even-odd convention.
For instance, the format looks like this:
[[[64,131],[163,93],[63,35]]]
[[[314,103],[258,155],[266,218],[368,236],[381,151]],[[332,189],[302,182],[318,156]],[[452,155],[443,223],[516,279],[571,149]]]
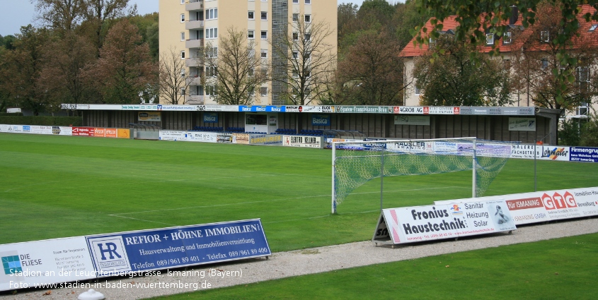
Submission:
[[[371,239],[380,183],[330,215],[328,150],[0,133],[0,243],[261,218],[272,251]],[[598,164],[538,161],[538,190],[596,186]],[[534,191],[510,160],[486,195]],[[471,172],[384,178],[384,208],[471,196]]]

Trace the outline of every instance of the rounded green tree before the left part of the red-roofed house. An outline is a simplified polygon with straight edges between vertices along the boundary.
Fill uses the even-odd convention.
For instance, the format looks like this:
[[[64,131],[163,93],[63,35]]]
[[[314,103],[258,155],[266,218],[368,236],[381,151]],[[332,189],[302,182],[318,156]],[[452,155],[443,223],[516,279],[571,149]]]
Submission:
[[[480,53],[475,44],[444,34],[436,48],[415,61],[413,77],[424,90],[422,105],[501,106],[510,104],[508,71],[502,61]]]

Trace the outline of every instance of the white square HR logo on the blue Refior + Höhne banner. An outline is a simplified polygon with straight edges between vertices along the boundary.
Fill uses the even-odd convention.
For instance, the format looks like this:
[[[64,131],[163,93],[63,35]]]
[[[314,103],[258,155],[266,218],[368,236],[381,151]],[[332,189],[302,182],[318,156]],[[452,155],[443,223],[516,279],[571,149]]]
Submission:
[[[99,270],[131,270],[122,236],[92,237],[88,239],[88,242]]]

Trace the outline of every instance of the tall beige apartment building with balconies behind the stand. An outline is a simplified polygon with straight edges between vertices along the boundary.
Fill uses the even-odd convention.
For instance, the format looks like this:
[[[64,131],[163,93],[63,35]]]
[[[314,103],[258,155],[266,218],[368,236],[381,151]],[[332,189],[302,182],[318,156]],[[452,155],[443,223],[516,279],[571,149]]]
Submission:
[[[199,49],[209,43],[212,47],[207,55],[217,56],[219,40],[228,28],[235,28],[247,32],[255,54],[271,61],[272,44],[280,42],[275,33],[286,30],[292,35],[294,18],[301,16],[306,22],[318,21],[336,28],[336,12],[335,0],[160,0],[160,52],[176,49],[180,59],[185,60],[185,70],[181,71],[189,82],[184,91],[185,104],[217,104],[213,89],[202,85],[202,76],[209,71],[197,59]],[[328,41],[335,49],[336,39],[332,35]],[[272,73],[277,71],[281,70]],[[253,104],[287,104],[277,97],[276,91],[284,88],[280,85],[268,82],[260,87]]]

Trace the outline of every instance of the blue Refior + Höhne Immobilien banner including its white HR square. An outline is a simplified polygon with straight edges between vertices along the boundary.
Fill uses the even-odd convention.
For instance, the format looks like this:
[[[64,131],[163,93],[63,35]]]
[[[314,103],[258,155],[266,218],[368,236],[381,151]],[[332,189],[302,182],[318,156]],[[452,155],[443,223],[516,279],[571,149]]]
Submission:
[[[270,256],[259,219],[86,236],[98,277]]]

